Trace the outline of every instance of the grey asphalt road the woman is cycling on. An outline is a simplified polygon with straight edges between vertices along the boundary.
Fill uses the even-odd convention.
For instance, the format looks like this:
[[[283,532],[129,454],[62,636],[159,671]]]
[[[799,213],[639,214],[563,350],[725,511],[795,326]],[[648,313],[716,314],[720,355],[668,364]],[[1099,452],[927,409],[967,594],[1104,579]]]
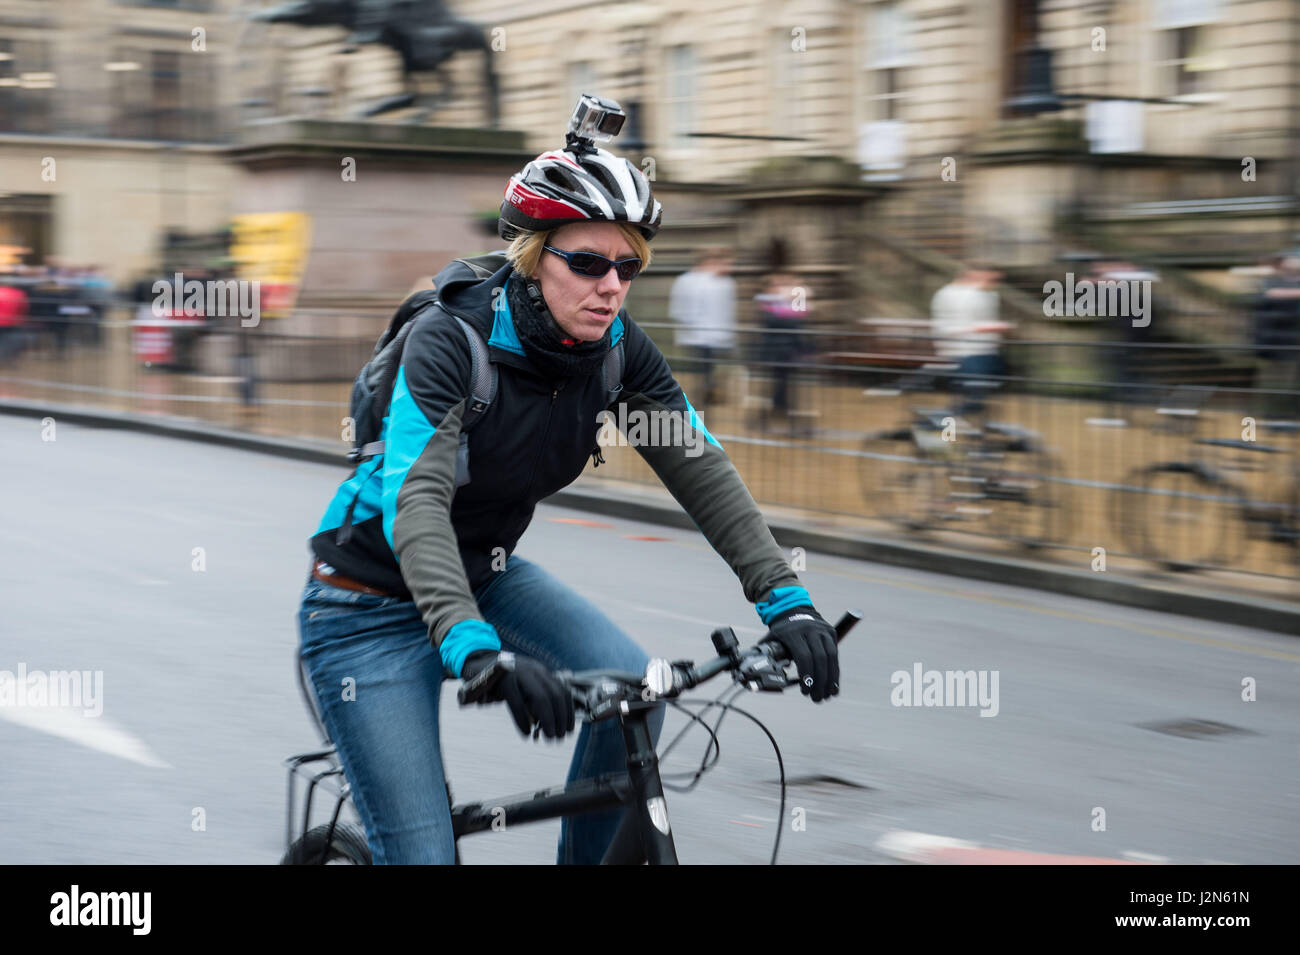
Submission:
[[[317,742],[294,680],[307,538],[346,473],[56,429],[44,440],[36,420],[0,416],[0,670],[101,672],[103,712],[0,706],[0,861],[277,861],[281,760]],[[742,639],[760,634],[697,533],[573,518],[586,516],[540,508],[519,552],[651,655],[710,656],[720,624]],[[1300,861],[1294,638],[1013,582],[806,560],[801,576],[822,612],[858,607],[866,620],[841,647],[837,699],[740,700],[772,730],[794,781],[781,861],[894,861],[881,839],[900,830],[1092,858]],[[996,672],[996,715],[894,706],[893,674],[916,664]],[[1196,733],[1206,724],[1191,721],[1219,732]],[[681,724],[670,716],[668,732]],[[458,799],[564,777],[571,743],[521,741],[504,708],[460,711],[443,694],[442,733]],[[664,772],[688,768],[688,751],[698,761],[705,742],[688,737]],[[670,793],[679,855],[766,861],[779,795],[771,747],[734,715],[722,745],[722,763],[693,793]],[[549,863],[558,829],[469,837],[463,856]]]

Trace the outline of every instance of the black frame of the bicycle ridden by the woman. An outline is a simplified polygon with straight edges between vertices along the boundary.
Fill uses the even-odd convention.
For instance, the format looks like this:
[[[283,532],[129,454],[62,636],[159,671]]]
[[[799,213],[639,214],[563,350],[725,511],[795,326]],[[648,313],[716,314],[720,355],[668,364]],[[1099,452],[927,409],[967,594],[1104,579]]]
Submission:
[[[468,803],[451,811],[451,830],[456,839],[491,829],[506,821],[537,822],[560,816],[576,816],[627,806],[602,865],[676,865],[677,850],[668,825],[668,806],[659,778],[659,758],[650,735],[649,713],[662,703],[629,702],[619,715],[628,769],[578,780],[566,786],[540,790],[514,803]]]

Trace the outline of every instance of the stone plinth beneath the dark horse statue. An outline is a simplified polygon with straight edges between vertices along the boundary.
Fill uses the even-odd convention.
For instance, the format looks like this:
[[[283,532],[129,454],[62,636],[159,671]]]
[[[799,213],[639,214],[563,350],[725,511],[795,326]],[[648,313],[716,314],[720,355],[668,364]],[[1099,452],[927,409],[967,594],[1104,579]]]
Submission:
[[[329,381],[351,378],[364,360],[367,350],[344,339],[373,340],[402,299],[452,259],[504,244],[485,229],[488,213],[533,155],[510,130],[283,118],[248,123],[229,157],[243,172],[237,223],[248,213],[307,220],[291,240],[268,234],[265,252],[252,246],[259,268],[264,260],[268,273],[299,275],[291,309],[259,330],[309,337],[287,363],[273,363],[285,350],[263,350],[259,374]],[[208,370],[228,368],[235,346],[226,338],[209,343]]]

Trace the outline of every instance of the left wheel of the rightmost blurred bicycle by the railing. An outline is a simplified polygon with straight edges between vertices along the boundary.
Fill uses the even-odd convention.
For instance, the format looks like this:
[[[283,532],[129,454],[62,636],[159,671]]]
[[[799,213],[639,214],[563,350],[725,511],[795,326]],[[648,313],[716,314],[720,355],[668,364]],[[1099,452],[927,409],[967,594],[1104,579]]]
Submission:
[[[1228,567],[1244,544],[1238,516],[1245,495],[1197,464],[1139,468],[1126,482],[1121,531],[1138,554],[1170,570]]]

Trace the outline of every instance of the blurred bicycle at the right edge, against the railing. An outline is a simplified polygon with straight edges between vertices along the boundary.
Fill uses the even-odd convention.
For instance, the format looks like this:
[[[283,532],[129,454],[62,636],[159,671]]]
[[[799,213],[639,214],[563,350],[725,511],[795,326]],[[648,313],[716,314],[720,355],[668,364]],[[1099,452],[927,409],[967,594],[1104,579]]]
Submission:
[[[1247,541],[1290,547],[1291,560],[1300,564],[1300,460],[1291,453],[1280,495],[1252,496],[1236,476],[1273,472],[1268,457],[1286,455],[1286,448],[1235,438],[1201,438],[1199,404],[1178,404],[1157,408],[1156,414],[1167,421],[1152,430],[1186,435],[1191,453],[1128,473],[1115,505],[1126,544],[1173,572],[1228,567],[1242,556]],[[1261,421],[1258,427],[1265,434],[1300,434],[1295,421]]]

